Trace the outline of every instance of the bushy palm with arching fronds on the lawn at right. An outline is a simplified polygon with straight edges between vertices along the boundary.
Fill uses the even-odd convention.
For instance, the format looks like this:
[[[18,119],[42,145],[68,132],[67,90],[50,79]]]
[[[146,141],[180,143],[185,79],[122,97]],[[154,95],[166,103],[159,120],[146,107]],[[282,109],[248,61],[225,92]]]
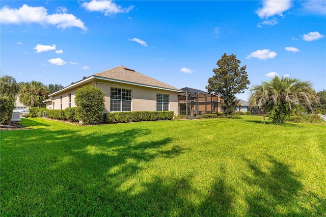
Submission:
[[[297,106],[311,108],[314,100],[318,101],[318,96],[310,82],[275,76],[261,85],[254,85],[249,102],[261,108],[263,114],[268,112],[274,124],[282,124]]]

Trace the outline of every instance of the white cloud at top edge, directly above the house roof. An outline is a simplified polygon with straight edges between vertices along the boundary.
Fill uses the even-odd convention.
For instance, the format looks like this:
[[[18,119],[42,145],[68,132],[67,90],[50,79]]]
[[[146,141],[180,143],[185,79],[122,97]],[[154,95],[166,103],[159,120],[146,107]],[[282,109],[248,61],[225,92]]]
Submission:
[[[102,12],[105,16],[114,15],[118,13],[128,13],[130,10],[133,9],[133,6],[129,6],[128,8],[122,8],[120,5],[117,5],[113,1],[106,0],[92,0],[91,2],[84,2],[82,6],[89,11]]]

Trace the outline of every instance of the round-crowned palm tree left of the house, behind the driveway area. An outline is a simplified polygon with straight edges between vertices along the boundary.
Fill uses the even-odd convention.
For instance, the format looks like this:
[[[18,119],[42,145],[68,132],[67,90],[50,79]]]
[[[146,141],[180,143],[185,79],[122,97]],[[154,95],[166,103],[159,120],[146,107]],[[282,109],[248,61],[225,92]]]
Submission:
[[[46,86],[35,80],[25,83],[19,91],[20,102],[31,107],[43,107],[42,101],[47,98],[48,94]]]

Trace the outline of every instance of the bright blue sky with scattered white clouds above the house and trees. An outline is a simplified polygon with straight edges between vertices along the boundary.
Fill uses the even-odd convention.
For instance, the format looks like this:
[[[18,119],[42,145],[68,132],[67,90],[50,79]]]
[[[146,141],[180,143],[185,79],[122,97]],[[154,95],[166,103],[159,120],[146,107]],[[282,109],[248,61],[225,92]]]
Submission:
[[[17,82],[68,86],[124,65],[205,90],[226,52],[251,85],[285,75],[326,89],[326,1],[1,1],[0,16],[1,74]]]

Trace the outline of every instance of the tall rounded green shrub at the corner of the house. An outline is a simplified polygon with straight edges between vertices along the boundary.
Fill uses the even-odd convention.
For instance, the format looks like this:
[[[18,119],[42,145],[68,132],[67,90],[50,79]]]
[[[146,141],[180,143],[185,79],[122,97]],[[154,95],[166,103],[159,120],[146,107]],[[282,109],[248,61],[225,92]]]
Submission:
[[[102,121],[104,110],[104,92],[87,85],[79,88],[75,94],[76,117],[83,124],[98,124]]]

